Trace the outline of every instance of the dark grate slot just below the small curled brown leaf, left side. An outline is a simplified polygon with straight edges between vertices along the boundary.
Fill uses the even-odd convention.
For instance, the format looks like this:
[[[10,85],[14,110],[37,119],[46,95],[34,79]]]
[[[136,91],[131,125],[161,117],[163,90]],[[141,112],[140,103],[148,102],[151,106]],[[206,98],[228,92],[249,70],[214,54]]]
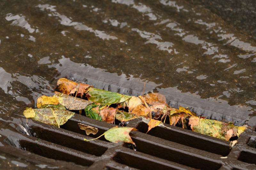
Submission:
[[[108,149],[107,147],[99,146],[94,143],[84,142],[83,137],[79,137],[70,132],[63,134],[63,132],[60,133],[60,131],[55,131],[55,129],[48,130],[37,126],[32,126],[31,129],[36,133],[36,137],[40,139],[95,156],[101,156]]]

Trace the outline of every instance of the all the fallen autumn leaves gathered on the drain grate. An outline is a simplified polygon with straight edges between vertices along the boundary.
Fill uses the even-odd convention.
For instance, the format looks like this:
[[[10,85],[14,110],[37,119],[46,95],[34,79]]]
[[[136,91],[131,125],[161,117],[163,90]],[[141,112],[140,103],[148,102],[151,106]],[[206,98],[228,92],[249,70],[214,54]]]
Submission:
[[[75,114],[71,111],[108,123],[120,121],[125,124],[132,119],[142,118],[142,121],[148,124],[148,131],[156,126],[166,127],[163,122],[167,119],[170,125],[179,124],[183,128],[190,126],[192,131],[227,141],[231,137],[239,137],[246,129],[245,126],[235,126],[232,122],[205,119],[181,106],[179,109],[169,107],[164,95],[160,93],[128,96],[76,83],[66,78],[60,78],[57,85],[59,92],[55,92],[53,96],[38,97],[37,108],[28,108],[23,114],[27,118],[58,127]],[[87,135],[98,132],[97,128],[82,123],[78,125]],[[111,142],[123,141],[134,144],[129,136],[131,130],[135,129],[114,127],[99,137],[104,136]]]

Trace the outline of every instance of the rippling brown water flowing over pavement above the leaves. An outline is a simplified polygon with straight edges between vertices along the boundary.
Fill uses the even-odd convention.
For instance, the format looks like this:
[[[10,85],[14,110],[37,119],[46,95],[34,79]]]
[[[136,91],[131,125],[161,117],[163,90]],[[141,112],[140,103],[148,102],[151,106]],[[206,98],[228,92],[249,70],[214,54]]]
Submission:
[[[68,77],[255,126],[255,2],[209,2],[1,1],[0,117]]]

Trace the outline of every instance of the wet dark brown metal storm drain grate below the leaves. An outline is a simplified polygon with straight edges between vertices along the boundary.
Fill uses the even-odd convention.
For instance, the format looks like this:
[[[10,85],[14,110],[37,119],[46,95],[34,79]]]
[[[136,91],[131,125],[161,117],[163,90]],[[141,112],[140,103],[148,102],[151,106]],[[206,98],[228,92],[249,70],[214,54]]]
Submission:
[[[142,119],[135,119],[127,125],[138,129],[130,133],[136,144],[132,146],[110,143],[104,137],[84,142],[85,131],[77,123],[99,129],[87,139],[98,137],[116,125],[78,114],[60,128],[30,119],[27,122],[23,116],[18,119],[28,125],[26,133],[31,135],[6,129],[4,143],[9,145],[5,149],[1,147],[1,151],[20,157],[30,155],[33,161],[55,166],[61,162],[66,169],[256,169],[256,132],[249,128],[231,149],[227,141],[168,124],[165,126],[171,129],[156,127],[146,134],[148,125]]]

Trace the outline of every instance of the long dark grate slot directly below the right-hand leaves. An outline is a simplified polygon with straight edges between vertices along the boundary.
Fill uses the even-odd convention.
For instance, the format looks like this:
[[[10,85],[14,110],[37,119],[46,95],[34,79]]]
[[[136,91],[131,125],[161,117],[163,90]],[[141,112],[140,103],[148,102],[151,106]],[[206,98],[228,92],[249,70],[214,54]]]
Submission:
[[[138,126],[138,130],[140,132],[146,133],[148,131],[148,125],[144,122],[141,122]],[[227,156],[230,152],[229,144],[226,141],[219,141],[218,139],[206,140],[205,138],[208,136],[201,137],[197,134],[192,134],[191,131],[188,133],[184,130],[185,129],[178,129],[177,127],[166,129],[158,126],[151,129],[148,134],[222,156]]]

